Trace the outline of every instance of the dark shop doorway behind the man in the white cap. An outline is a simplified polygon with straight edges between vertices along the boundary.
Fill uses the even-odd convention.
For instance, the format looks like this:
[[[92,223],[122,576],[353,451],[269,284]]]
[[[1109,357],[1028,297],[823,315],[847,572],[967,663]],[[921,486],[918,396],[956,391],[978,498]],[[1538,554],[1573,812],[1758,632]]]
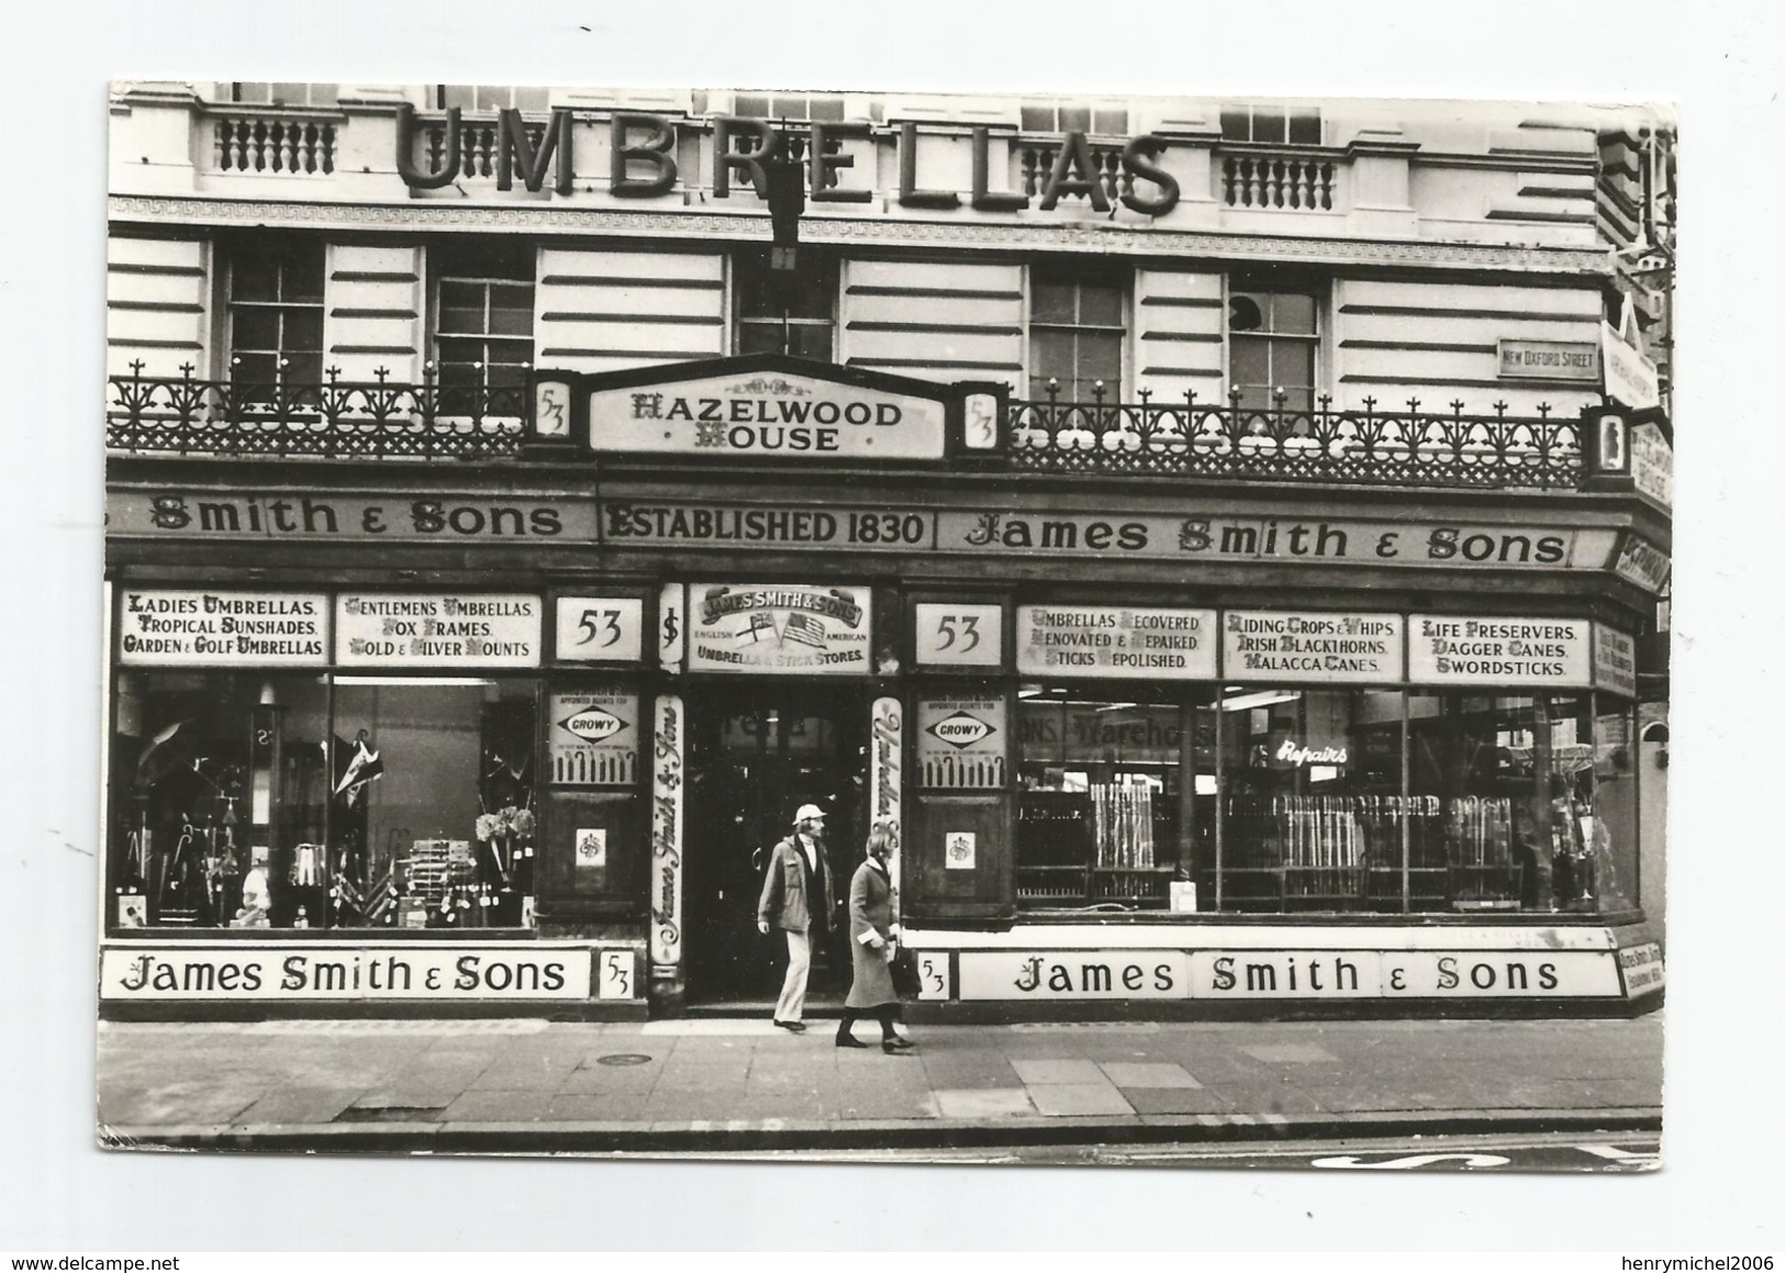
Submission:
[[[780,930],[757,932],[775,843],[803,803],[825,811],[825,859],[839,900],[862,853],[868,700],[855,689],[771,686],[689,695],[693,791],[684,846],[687,993],[698,1003],[773,1005],[787,966]],[[843,912],[812,952],[809,1002],[841,1000],[850,953]]]

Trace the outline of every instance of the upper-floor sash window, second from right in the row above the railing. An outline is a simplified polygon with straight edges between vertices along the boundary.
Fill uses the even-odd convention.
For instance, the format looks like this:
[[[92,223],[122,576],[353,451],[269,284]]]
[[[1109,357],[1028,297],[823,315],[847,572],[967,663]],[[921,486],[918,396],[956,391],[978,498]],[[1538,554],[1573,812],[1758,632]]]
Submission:
[[[1032,273],[1028,302],[1028,393],[1046,398],[1050,384],[1062,402],[1121,396],[1126,295],[1107,275]]]

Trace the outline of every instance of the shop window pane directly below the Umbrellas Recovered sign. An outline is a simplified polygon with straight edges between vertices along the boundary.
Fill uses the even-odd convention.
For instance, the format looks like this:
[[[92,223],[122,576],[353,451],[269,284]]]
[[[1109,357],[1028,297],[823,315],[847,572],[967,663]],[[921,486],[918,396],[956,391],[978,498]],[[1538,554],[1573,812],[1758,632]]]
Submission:
[[[1210,834],[1207,707],[1028,686],[1016,716],[1017,905],[1171,905]]]

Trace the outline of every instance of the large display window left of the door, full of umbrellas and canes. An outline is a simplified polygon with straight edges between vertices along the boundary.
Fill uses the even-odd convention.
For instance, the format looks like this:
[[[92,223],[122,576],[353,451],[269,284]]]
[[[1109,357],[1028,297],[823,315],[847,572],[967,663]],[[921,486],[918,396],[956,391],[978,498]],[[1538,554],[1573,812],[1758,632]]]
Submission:
[[[532,925],[530,678],[127,671],[120,928]]]

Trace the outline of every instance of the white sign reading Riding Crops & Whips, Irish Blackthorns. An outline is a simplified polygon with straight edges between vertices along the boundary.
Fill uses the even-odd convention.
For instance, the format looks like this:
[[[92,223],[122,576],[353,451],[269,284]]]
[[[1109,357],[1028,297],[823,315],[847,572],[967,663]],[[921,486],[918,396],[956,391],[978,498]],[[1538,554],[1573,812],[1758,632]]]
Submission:
[[[1221,666],[1228,680],[1380,684],[1401,680],[1399,614],[1226,611]]]

